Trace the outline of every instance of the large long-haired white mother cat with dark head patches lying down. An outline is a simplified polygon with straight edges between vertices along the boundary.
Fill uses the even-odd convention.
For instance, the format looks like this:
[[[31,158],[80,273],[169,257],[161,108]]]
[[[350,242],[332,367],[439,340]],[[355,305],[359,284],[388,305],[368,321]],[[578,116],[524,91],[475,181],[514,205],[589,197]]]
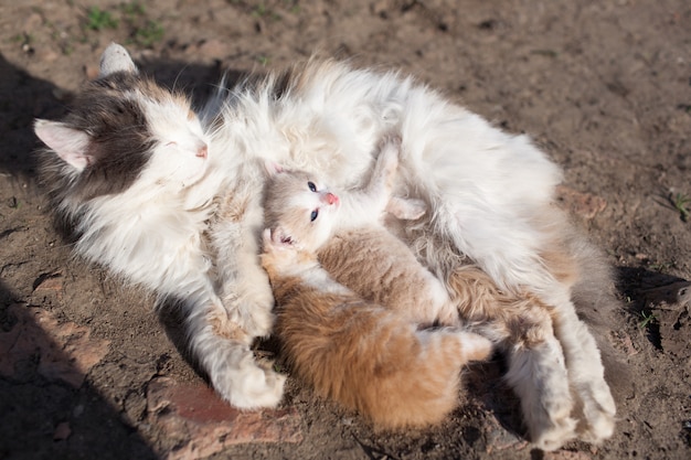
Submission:
[[[64,120],[36,120],[35,132],[49,147],[42,181],[75,231],[76,252],[178,300],[190,350],[223,398],[273,407],[285,382],[249,349],[273,324],[257,257],[263,164],[360,188],[379,141],[396,132],[396,194],[432,210],[404,232],[419,257],[453,295],[471,284],[468,258],[497,292],[534,299],[546,312],[550,336],[503,343],[532,441],[555,449],[612,435],[615,406],[599,352],[572,301],[586,290],[584,274],[606,270],[552,206],[561,173],[527,137],[501,132],[411,78],[331,61],[222,89],[200,114],[111,44],[99,78]],[[532,331],[512,324],[524,330],[511,336]]]

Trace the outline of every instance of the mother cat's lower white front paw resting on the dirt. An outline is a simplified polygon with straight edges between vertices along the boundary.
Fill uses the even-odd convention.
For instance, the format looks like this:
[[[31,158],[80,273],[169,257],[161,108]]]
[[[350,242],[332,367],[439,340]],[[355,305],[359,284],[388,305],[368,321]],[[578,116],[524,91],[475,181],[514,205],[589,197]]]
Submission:
[[[233,365],[237,356],[228,356],[227,362],[210,373],[214,389],[241,409],[276,407],[283,398],[286,376],[259,366],[248,350],[236,350],[233,354],[236,353],[244,354],[237,365]]]

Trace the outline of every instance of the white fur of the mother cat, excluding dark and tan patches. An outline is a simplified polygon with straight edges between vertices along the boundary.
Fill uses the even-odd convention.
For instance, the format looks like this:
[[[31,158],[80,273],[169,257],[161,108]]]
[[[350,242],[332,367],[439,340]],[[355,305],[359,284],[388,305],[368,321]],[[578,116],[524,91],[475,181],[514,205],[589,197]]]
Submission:
[[[111,45],[102,74],[117,71],[136,67],[124,49]],[[551,202],[561,172],[525,136],[504,133],[411,78],[336,63],[309,63],[299,87],[280,98],[270,82],[259,89],[220,92],[202,110],[206,132],[157,107],[150,110],[160,117],[155,130],[173,138],[181,130],[189,135],[184,141],[173,139],[191,151],[183,160],[189,168],[170,170],[170,181],[160,182],[160,170],[170,164],[157,152],[160,158],[125,193],[95,199],[86,210],[64,206],[81,211],[78,253],[162,297],[183,300],[192,353],[225,399],[238,407],[275,406],[285,377],[259,367],[248,347],[273,323],[273,301],[257,260],[259,201],[251,200],[245,220],[228,222],[209,248],[200,228],[214,215],[214,196],[237,184],[258,195],[265,180],[261,163],[267,161],[319,171],[339,189],[359,188],[368,180],[378,143],[393,131],[402,138],[397,188],[430,205],[428,236],[476,260],[502,289],[539,296],[564,321],[556,335],[572,366],[567,377],[556,342],[544,353],[512,357],[510,379],[524,398],[533,438],[551,449],[573,436],[570,399],[565,406],[554,403],[570,382],[584,402],[589,439],[612,434],[614,405],[597,349],[575,319],[568,288],[540,257],[545,235],[534,218]],[[205,160],[194,156],[202,142],[209,146]],[[221,256],[217,280],[215,255]],[[437,257],[443,255],[427,259],[430,267]],[[215,334],[214,315],[227,318],[246,336]],[[580,325],[570,330],[574,324]]]

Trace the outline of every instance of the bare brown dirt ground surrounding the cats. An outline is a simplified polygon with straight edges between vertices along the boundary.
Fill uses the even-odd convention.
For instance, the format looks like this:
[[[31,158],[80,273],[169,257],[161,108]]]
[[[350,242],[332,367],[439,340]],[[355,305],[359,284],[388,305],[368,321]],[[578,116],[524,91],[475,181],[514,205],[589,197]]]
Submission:
[[[189,448],[203,436],[181,435],[156,398],[178,395],[179,415],[180,395],[213,395],[189,391],[205,384],[176,319],[73,259],[35,186],[33,118],[60,117],[110,41],[200,98],[224,69],[320,52],[400,68],[530,133],[618,276],[621,307],[596,329],[614,350],[615,436],[532,450],[497,357],[433,429],[374,432],[289,379],[280,410],[253,419],[262,431],[284,417],[283,431]],[[690,137],[688,0],[0,1],[0,458],[691,458]]]

